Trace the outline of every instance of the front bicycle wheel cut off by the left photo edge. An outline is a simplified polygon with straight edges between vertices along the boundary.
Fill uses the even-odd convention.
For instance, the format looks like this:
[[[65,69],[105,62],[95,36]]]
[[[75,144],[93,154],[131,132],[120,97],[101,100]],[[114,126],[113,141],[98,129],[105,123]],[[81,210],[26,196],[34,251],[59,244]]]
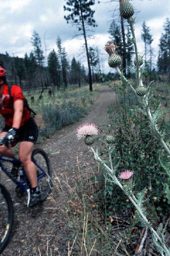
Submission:
[[[7,213],[8,211],[8,213]],[[7,216],[7,219],[5,217]],[[14,221],[14,208],[8,190],[0,184],[0,253],[9,242]]]

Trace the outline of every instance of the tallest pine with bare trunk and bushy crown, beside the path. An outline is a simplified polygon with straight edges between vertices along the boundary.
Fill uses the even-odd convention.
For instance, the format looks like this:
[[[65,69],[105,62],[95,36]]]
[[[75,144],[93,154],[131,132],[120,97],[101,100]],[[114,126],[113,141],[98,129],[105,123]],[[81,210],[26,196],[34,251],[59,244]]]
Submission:
[[[67,23],[73,23],[77,26],[79,31],[82,31],[85,40],[85,49],[88,61],[88,73],[89,73],[89,89],[92,92],[92,77],[91,77],[91,65],[89,60],[88,43],[87,43],[87,26],[96,26],[94,20],[94,10],[91,10],[91,6],[95,4],[95,0],[65,0],[66,6],[64,11],[70,12],[67,16],[64,16]]]

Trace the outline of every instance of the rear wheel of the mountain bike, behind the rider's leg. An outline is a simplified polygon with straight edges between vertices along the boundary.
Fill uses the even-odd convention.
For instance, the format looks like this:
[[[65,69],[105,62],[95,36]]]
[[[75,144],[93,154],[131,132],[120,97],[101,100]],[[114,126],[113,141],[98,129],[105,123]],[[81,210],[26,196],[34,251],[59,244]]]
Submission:
[[[48,197],[51,192],[52,183],[52,167],[48,155],[46,152],[40,148],[36,148],[32,152],[32,159],[37,162],[42,169],[45,170],[46,175],[39,179],[38,186],[40,187],[40,201],[43,202]],[[37,166],[36,166],[37,167]],[[37,167],[37,177],[40,176],[42,172]]]

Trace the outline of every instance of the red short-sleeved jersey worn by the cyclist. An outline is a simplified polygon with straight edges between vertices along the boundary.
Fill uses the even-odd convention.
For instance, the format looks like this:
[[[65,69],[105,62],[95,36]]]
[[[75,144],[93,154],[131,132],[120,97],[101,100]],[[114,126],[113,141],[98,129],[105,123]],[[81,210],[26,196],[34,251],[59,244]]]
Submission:
[[[13,124],[14,101],[24,100],[22,89],[17,85],[13,85],[11,87],[11,97],[9,95],[8,86],[6,84],[3,84],[3,95],[0,101],[0,114],[5,119],[6,125],[8,125],[9,127],[12,127],[12,124]],[[20,127],[26,124],[26,122],[30,118],[31,118],[30,112],[28,111],[27,108],[24,108]]]

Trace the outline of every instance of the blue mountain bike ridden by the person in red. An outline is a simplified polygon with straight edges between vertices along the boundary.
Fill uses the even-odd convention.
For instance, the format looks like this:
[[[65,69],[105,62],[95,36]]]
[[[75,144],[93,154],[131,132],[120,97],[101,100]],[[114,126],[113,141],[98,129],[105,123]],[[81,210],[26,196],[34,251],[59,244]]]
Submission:
[[[0,145],[4,144],[4,138],[0,138]],[[38,186],[40,187],[41,197],[40,202],[45,201],[51,192],[52,187],[52,168],[48,155],[44,150],[35,148],[32,152],[31,160],[34,162],[37,170]],[[18,175],[13,176],[11,170],[8,170],[2,161],[10,163],[18,163],[20,167],[18,169]],[[6,173],[6,175],[17,185],[16,194],[19,198],[23,197],[27,193],[27,206],[30,200],[30,188],[31,185],[26,177],[26,173],[20,163],[20,160],[8,158],[0,155],[0,171]],[[9,238],[12,231],[14,219],[14,209],[10,193],[2,184],[0,184],[0,253],[4,250],[9,242]]]

